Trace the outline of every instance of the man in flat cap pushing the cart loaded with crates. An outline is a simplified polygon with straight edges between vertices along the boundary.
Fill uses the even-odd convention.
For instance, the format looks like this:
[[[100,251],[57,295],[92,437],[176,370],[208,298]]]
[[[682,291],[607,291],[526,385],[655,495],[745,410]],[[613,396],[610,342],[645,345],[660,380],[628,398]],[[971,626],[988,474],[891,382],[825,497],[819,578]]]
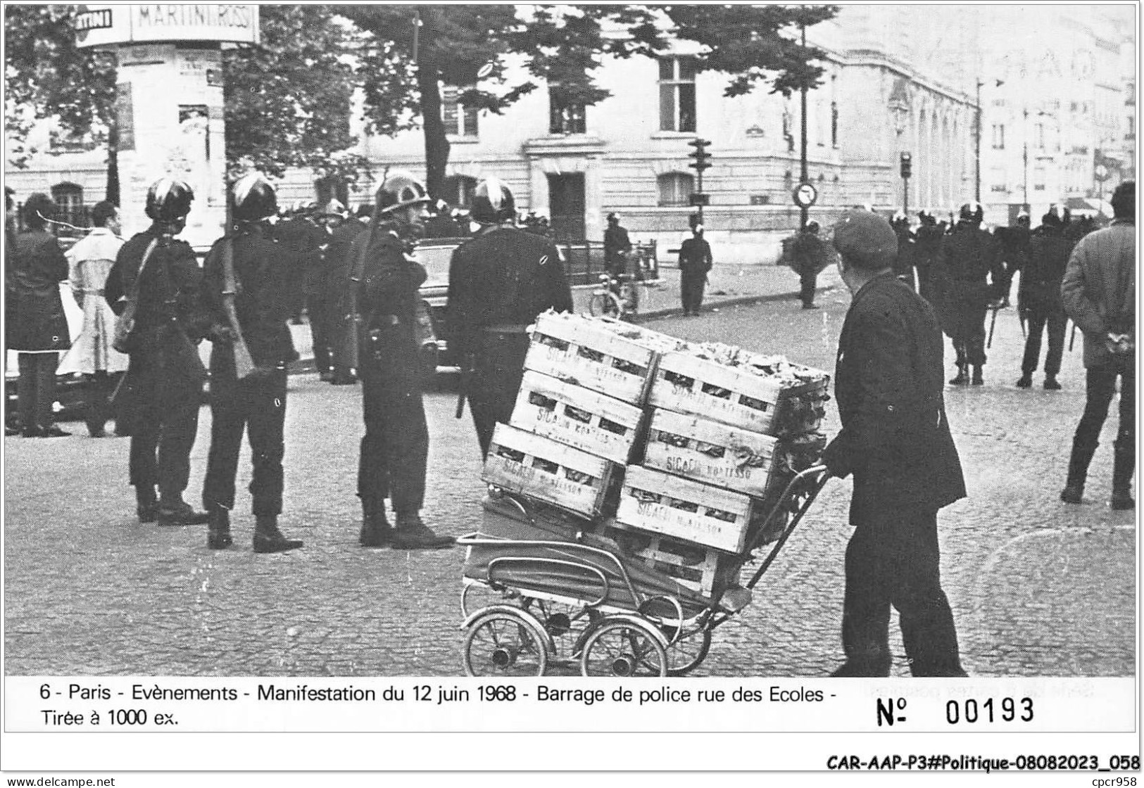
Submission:
[[[835,368],[842,430],[823,461],[832,476],[855,476],[847,661],[834,675],[889,675],[892,605],[914,676],[964,676],[938,567],[937,511],[966,495],[942,393],[942,332],[929,303],[893,277],[898,241],[884,218],[847,212],[834,246],[853,300]]]

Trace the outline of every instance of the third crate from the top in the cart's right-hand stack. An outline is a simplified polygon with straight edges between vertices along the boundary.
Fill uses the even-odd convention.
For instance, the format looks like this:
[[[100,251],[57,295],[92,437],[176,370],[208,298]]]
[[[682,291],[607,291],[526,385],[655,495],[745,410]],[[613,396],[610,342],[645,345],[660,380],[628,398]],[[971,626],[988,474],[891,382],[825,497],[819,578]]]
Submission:
[[[615,525],[738,554],[746,543],[754,506],[741,493],[631,465],[625,475]]]

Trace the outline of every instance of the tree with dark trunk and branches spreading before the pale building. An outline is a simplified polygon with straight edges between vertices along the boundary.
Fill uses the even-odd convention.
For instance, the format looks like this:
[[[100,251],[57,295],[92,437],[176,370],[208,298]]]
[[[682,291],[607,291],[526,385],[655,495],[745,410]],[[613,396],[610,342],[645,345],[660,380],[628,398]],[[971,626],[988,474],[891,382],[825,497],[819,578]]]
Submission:
[[[773,82],[772,91],[788,95],[815,87],[823,74],[813,61],[824,53],[800,45],[799,26],[837,13],[833,6],[707,5],[339,6],[337,10],[374,37],[363,65],[368,130],[392,134],[420,122],[426,185],[434,197],[443,196],[450,153],[442,85],[467,88],[460,94],[463,104],[498,113],[534,90],[538,80],[548,83],[554,102],[594,105],[611,95],[593,78],[605,56],[657,56],[675,37],[702,45],[698,67],[726,72],[728,96],[766,81]],[[527,78],[507,81],[509,56],[525,61]],[[388,89],[384,101],[378,101],[368,77],[373,72],[404,80],[406,90]],[[394,96],[399,101],[395,103]],[[403,122],[395,125],[398,118]]]

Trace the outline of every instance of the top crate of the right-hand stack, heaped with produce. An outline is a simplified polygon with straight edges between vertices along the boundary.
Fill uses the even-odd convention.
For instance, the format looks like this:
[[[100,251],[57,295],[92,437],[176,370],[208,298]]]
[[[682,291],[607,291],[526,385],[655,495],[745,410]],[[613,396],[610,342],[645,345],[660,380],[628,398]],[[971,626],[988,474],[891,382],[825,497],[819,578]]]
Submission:
[[[765,435],[812,431],[825,415],[821,403],[829,377],[804,368],[816,380],[789,384],[691,353],[666,352],[659,359],[649,404]]]

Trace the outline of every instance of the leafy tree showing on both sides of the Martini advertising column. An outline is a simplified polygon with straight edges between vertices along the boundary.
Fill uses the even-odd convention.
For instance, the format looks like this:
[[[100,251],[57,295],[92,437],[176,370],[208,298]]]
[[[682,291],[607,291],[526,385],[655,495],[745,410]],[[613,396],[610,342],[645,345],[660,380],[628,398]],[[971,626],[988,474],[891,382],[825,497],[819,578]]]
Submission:
[[[55,118],[88,146],[106,144],[108,199],[118,202],[114,55],[76,46],[79,8],[5,8],[5,130],[18,141],[32,119]],[[352,182],[367,168],[347,152],[355,144],[353,30],[320,5],[261,6],[260,26],[261,46],[224,51],[229,174],[254,167],[280,177],[287,167],[304,167]]]

